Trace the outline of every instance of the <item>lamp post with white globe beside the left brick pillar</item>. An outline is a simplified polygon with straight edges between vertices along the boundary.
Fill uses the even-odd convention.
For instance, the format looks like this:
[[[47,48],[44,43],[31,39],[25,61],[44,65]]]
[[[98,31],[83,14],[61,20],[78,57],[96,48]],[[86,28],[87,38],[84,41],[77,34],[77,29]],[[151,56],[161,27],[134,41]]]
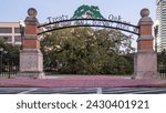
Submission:
[[[20,27],[20,34],[21,34],[21,49],[23,49],[23,37],[24,37],[24,28],[25,24],[22,20],[19,21],[19,27]]]

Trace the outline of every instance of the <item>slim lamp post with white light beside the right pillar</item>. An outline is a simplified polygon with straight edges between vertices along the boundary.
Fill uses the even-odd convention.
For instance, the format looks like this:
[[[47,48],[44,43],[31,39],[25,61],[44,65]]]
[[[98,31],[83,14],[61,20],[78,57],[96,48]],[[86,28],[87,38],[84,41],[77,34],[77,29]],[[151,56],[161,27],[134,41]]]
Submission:
[[[154,25],[155,51],[156,51],[156,52],[157,52],[158,27],[159,27],[159,21],[158,21],[158,20],[156,20],[155,25]]]

